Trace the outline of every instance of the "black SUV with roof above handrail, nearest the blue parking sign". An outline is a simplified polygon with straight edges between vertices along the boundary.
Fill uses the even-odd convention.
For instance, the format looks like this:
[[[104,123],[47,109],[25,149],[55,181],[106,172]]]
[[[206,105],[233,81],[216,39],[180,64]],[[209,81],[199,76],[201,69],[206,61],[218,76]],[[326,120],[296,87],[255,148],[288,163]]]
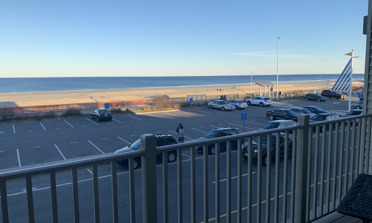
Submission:
[[[195,141],[199,140],[204,140],[204,139],[214,139],[214,138],[219,138],[219,137],[224,137],[224,136],[232,136],[232,135],[238,135],[241,134],[239,129],[235,128],[228,128],[228,127],[221,127],[221,128],[215,128],[210,130],[209,132],[205,133],[202,137],[195,139]],[[244,140],[241,140],[241,144],[244,143]],[[232,149],[238,149],[238,141],[233,140],[231,142],[231,148]],[[226,142],[221,142],[219,143],[219,149],[220,150],[225,150],[226,149]],[[203,146],[196,146],[195,150],[198,152],[203,152]],[[216,153],[216,148],[215,144],[209,144],[208,145],[208,154],[209,155],[214,155]]]

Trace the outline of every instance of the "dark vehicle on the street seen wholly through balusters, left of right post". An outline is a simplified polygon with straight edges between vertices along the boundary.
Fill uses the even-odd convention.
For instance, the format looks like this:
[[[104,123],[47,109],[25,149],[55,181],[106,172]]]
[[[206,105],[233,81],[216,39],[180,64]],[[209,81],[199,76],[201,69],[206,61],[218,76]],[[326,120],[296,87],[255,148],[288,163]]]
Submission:
[[[285,149],[285,134],[280,133],[280,156],[284,156],[284,149]],[[241,156],[243,159],[248,159],[248,142],[244,143],[242,146]],[[271,160],[273,161],[276,156],[276,133],[271,134]],[[258,150],[258,137],[256,137],[252,141],[252,158],[257,159],[257,150]],[[288,155],[292,154],[292,140],[288,138]],[[267,165],[267,135],[262,136],[262,165]]]

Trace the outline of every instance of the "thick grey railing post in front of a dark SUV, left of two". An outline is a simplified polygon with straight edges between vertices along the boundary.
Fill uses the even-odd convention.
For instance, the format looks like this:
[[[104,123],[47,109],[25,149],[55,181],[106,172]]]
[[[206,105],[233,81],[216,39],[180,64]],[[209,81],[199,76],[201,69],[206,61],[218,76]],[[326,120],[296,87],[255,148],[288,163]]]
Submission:
[[[142,222],[150,223],[158,219],[156,205],[156,136],[153,134],[143,134],[140,138],[141,149],[145,152],[141,158]]]

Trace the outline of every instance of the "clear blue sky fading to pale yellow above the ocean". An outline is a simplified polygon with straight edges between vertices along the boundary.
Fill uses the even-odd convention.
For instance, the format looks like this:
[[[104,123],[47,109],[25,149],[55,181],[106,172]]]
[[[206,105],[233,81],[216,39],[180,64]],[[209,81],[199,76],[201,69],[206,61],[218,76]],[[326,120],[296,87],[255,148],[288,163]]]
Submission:
[[[0,77],[364,72],[367,0],[0,3]]]

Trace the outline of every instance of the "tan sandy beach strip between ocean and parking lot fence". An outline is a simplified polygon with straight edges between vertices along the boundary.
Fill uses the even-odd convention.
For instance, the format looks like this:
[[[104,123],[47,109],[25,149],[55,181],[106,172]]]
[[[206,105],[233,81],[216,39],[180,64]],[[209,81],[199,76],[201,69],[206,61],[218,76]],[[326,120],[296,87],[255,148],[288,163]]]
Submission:
[[[334,82],[297,81],[279,83],[279,91],[331,88]],[[363,85],[353,81],[353,86]],[[217,91],[217,88],[224,91]],[[250,93],[250,84],[210,85],[192,87],[133,88],[115,90],[82,90],[82,91],[45,91],[29,93],[1,93],[0,107],[35,106],[50,104],[71,104],[104,101],[123,101],[152,98],[155,95],[165,97],[186,97],[190,94],[222,95]],[[267,88],[266,91],[269,89]],[[274,91],[276,85],[274,85]],[[262,87],[263,91],[263,87]],[[252,84],[252,93],[259,93],[259,85]]]

